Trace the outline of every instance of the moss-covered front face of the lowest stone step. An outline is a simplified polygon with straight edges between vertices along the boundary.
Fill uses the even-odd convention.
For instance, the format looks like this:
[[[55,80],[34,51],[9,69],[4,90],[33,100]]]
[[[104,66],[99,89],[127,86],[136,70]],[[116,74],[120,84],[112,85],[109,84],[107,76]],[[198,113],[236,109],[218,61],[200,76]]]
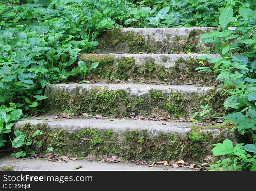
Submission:
[[[42,135],[35,137],[35,130]],[[178,160],[186,162],[202,162],[216,160],[212,158],[210,145],[222,142],[225,131],[219,136],[212,136],[211,132],[199,133],[191,131],[186,138],[172,133],[160,132],[157,135],[147,130],[125,131],[115,133],[113,130],[97,130],[84,128],[76,133],[68,133],[63,129],[54,131],[46,123],[35,126],[26,123],[20,128],[24,136],[33,140],[31,148],[46,153],[47,148],[53,147],[60,155],[108,157],[117,155],[127,160]],[[42,141],[42,147],[38,143]]]

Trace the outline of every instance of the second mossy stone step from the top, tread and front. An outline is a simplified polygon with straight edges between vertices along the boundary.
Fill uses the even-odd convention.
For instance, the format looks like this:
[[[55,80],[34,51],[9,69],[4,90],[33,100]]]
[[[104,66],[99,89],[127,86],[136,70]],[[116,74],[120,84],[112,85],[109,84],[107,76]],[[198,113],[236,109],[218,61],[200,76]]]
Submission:
[[[216,76],[209,75],[209,72],[196,73],[197,67],[211,67],[207,60],[198,60],[198,56],[206,54],[81,54],[79,59],[85,61],[87,67],[99,62],[98,67],[91,71],[92,75],[89,75],[91,80],[96,81],[110,81],[108,78],[115,76],[130,82],[216,83]],[[210,56],[216,58],[220,55]]]

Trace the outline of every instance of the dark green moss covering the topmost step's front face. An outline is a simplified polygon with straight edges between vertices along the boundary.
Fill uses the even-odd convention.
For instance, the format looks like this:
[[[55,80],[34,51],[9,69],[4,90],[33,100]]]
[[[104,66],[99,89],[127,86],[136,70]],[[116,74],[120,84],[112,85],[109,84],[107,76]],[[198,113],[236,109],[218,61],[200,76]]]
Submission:
[[[196,47],[200,43],[201,33],[202,31],[193,29],[185,39],[167,34],[167,38],[163,41],[156,41],[149,35],[148,40],[145,40],[143,35],[134,34],[132,31],[121,32],[121,28],[114,28],[97,39],[99,42],[97,48],[104,53],[196,53],[203,50],[201,47]]]

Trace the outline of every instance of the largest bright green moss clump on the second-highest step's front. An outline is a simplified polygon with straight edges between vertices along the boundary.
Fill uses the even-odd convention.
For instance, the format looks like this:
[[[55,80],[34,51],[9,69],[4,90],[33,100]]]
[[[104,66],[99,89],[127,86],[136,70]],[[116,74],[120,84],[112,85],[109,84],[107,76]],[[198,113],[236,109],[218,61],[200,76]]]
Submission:
[[[134,63],[134,58],[128,58],[128,57],[123,57],[121,60],[119,60],[116,63],[116,78],[126,80],[129,76],[127,74],[127,70],[131,68],[131,65]]]

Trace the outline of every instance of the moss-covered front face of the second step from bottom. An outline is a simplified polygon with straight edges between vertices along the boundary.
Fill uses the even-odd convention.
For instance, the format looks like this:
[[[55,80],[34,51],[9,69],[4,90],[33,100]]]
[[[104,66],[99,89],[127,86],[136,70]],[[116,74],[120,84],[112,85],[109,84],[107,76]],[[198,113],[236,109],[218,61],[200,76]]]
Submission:
[[[199,87],[200,88],[200,87]],[[91,86],[90,91],[76,87],[70,92],[64,89],[51,90],[47,87],[44,100],[45,110],[50,112],[82,112],[88,114],[122,115],[133,112],[140,115],[155,115],[171,117],[190,117],[200,111],[202,104],[213,108],[212,113],[224,115],[222,101],[218,101],[221,93],[214,91],[205,94],[193,93],[162,93],[161,90],[149,90],[148,93],[136,96],[127,90],[108,90],[106,86]],[[210,96],[209,96],[210,95]]]

